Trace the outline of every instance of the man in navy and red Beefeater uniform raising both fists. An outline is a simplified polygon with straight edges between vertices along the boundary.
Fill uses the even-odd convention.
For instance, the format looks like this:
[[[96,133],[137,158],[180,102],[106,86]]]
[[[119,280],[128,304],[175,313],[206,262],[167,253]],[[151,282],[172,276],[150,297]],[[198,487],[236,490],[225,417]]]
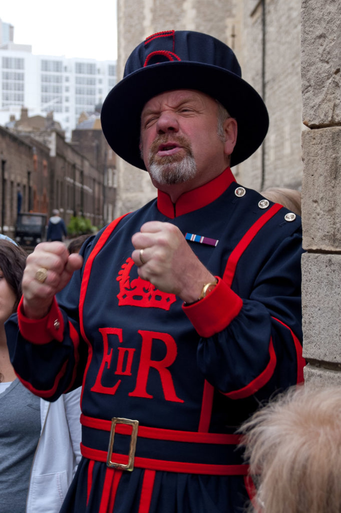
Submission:
[[[62,512],[237,513],[236,429],[303,380],[300,220],[230,169],[262,144],[267,109],[228,46],[170,30],[133,50],[101,120],[157,199],[79,254],[39,244],[7,325],[37,393],[83,383]]]

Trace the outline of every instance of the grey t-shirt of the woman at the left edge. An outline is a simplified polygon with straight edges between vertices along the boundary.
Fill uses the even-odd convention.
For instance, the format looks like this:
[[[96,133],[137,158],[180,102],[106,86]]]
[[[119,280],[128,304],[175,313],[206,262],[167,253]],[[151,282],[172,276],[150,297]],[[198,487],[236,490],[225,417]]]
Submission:
[[[25,513],[40,399],[15,379],[0,393],[0,513]]]

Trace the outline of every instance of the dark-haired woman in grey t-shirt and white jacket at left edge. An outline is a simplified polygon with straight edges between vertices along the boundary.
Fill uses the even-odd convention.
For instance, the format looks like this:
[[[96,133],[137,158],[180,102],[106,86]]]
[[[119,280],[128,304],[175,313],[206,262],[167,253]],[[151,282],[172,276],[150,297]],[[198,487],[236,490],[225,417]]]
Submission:
[[[80,389],[49,403],[16,377],[5,322],[22,296],[26,258],[0,240],[0,510],[58,513],[81,458]]]

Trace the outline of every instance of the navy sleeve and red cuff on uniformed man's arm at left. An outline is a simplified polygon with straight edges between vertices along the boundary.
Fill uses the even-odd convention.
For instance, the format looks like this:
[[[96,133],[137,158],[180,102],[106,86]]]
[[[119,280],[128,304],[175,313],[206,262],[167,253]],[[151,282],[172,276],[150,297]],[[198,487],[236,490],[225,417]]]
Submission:
[[[83,249],[86,260],[93,238]],[[82,385],[88,346],[79,328],[78,304],[82,269],[75,271],[69,284],[57,294],[43,328],[32,322],[32,330],[19,331],[18,314],[6,323],[6,336],[12,365],[19,379],[37,396],[54,401],[62,393]],[[60,299],[60,306],[59,305]],[[19,306],[20,308],[20,306]],[[54,327],[55,321],[60,327]],[[55,333],[55,337],[53,337]]]

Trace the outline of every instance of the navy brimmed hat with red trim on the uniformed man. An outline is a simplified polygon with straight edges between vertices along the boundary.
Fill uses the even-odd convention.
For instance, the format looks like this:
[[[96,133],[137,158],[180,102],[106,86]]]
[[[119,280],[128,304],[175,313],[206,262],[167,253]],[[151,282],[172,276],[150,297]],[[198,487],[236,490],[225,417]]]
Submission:
[[[204,92],[236,119],[238,136],[231,166],[262,144],[268,112],[259,94],[242,79],[231,48],[211,35],[170,30],[147,37],[133,50],[123,79],[104,101],[102,130],[117,155],[146,169],[139,151],[143,107],[153,96],[174,89]]]

